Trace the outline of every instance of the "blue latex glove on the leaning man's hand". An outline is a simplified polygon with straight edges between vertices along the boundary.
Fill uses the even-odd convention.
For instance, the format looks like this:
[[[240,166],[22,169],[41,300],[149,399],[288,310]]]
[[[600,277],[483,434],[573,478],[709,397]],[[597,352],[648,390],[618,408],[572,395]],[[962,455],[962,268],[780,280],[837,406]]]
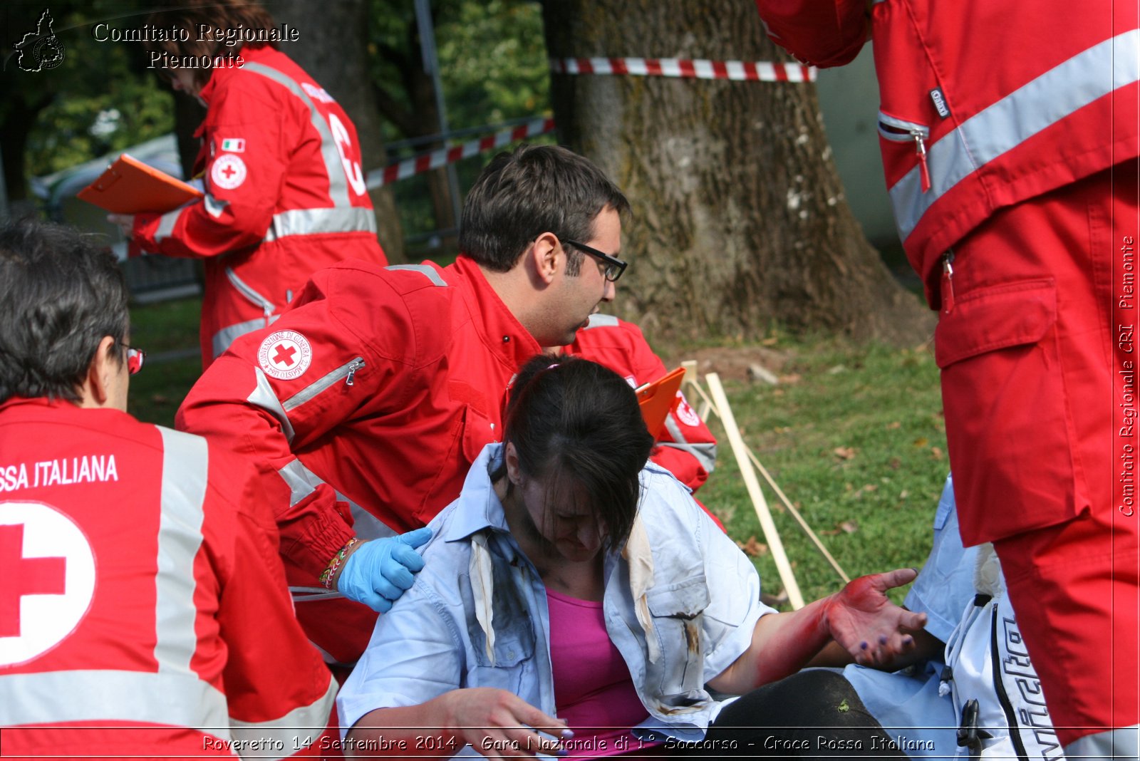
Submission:
[[[336,591],[376,613],[388,613],[392,603],[412,589],[412,574],[424,567],[415,548],[429,539],[431,529],[424,526],[399,537],[366,541],[344,560]]]

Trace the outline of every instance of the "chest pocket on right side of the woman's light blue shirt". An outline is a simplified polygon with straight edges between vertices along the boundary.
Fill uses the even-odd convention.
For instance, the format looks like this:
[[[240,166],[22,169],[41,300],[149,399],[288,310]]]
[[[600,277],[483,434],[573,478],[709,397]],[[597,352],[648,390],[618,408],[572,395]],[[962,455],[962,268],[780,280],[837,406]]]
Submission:
[[[660,695],[669,705],[686,705],[705,696],[703,612],[709,605],[705,575],[650,590],[645,596],[653,617],[653,632],[661,646],[657,663],[646,664],[646,676],[660,673]]]

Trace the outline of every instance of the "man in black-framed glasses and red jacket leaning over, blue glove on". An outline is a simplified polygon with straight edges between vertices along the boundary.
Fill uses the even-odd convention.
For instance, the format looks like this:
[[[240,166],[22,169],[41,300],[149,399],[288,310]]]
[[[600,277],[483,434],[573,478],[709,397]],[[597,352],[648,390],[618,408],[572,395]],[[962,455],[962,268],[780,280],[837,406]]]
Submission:
[[[458,496],[518,367],[614,297],[628,208],[569,150],[499,154],[464,202],[454,264],[317,272],[190,391],[179,427],[259,465],[298,617],[331,663],[352,664],[373,611],[410,587],[373,568],[417,570],[422,534],[396,537]]]

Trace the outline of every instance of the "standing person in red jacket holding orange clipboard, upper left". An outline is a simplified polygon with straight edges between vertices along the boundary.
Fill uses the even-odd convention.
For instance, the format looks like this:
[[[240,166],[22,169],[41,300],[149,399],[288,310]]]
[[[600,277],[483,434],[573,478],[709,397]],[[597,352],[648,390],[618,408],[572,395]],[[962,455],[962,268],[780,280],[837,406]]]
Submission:
[[[189,0],[152,14],[165,32],[152,65],[207,111],[198,128],[205,198],[166,214],[112,214],[130,252],[205,259],[202,362],[268,326],[309,276],[344,259],[386,264],[365,187],[356,128],[288,56],[261,6]],[[267,353],[275,344],[270,342]],[[296,371],[282,355],[266,371]]]

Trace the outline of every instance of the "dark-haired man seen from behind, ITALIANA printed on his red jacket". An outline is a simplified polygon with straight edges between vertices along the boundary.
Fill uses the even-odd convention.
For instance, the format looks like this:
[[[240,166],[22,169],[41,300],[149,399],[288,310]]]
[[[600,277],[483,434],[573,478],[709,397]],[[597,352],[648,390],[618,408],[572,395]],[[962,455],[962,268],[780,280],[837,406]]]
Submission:
[[[336,739],[321,738],[335,682],[294,620],[254,474],[127,414],[145,353],[114,256],[67,228],[0,224],[0,319],[5,751]]]

